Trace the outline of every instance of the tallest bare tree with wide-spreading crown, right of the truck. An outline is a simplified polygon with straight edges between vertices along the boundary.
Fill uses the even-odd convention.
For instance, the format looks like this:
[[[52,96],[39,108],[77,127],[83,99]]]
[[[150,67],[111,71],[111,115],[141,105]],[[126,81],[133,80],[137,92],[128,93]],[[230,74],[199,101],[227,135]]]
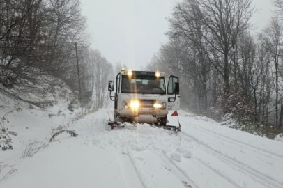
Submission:
[[[190,36],[198,34],[206,40],[210,52],[213,51],[213,56],[208,54],[208,57],[224,80],[224,95],[229,94],[231,61],[229,54],[239,36],[249,26],[250,17],[254,13],[251,2],[251,0],[186,0],[178,3],[174,16],[170,19],[171,33],[183,33],[191,40]],[[199,24],[195,24],[196,22]],[[203,48],[201,45],[199,47]],[[204,52],[208,53],[207,50]]]

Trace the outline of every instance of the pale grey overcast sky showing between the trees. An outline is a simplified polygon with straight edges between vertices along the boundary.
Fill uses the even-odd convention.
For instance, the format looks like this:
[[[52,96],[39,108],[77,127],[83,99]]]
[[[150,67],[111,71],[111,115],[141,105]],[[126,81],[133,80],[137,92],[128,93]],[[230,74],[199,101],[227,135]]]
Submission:
[[[273,0],[254,0],[253,33],[263,29],[272,16]],[[120,62],[131,70],[145,66],[160,45],[175,0],[81,0],[82,13],[92,33],[91,47],[111,63]]]

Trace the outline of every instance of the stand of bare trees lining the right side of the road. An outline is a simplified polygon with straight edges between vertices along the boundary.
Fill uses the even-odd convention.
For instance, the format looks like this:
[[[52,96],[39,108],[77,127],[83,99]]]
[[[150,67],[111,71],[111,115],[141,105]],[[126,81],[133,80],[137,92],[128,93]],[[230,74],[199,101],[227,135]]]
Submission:
[[[271,138],[279,129],[270,125],[283,127],[281,22],[268,25],[257,40],[249,31],[252,13],[251,0],[176,3],[169,42],[146,70],[181,77],[183,109],[216,118],[229,114],[242,130]]]

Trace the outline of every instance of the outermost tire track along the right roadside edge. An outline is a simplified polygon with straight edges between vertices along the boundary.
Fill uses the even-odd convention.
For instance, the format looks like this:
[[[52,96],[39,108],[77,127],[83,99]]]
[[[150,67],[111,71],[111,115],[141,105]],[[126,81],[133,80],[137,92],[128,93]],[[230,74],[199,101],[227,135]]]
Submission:
[[[228,137],[228,136],[219,134],[219,133],[217,133],[217,132],[213,132],[213,131],[211,131],[211,130],[207,130],[207,129],[203,128],[203,127],[198,127],[197,125],[194,125],[194,124],[192,124],[192,123],[188,123],[188,122],[186,122],[185,120],[180,120],[180,121],[182,121],[183,123],[189,124],[189,125],[187,125],[187,126],[189,126],[189,127],[192,127],[192,126],[190,126],[190,125],[193,125],[194,127],[192,127],[192,128],[194,128],[195,130],[209,132],[210,134],[214,134],[214,135],[217,135],[217,136],[221,136],[222,138],[224,138],[224,139],[226,139],[226,140],[231,140],[231,141],[234,141],[234,142],[236,142],[236,143],[240,143],[240,144],[242,144],[242,145],[244,146],[244,147],[241,146],[241,147],[243,147],[243,148],[250,147],[250,148],[252,148],[253,150],[256,149],[256,150],[259,150],[260,152],[265,152],[265,153],[267,153],[268,155],[274,155],[275,157],[279,157],[280,159],[283,159],[283,155],[279,155],[279,154],[277,154],[277,153],[275,153],[275,152],[268,151],[268,150],[265,150],[265,149],[262,149],[262,148],[258,148],[257,146],[252,146],[252,145],[249,144],[249,143],[245,143],[245,142],[242,142],[242,141],[238,141],[238,140],[236,140],[236,139],[232,139],[232,138],[230,138],[230,137]],[[239,146],[238,144],[236,144],[236,143],[234,143],[234,142],[229,142],[229,143],[233,143],[233,144]],[[255,150],[254,150],[254,152],[255,152]],[[268,157],[268,155],[266,155],[266,156]]]

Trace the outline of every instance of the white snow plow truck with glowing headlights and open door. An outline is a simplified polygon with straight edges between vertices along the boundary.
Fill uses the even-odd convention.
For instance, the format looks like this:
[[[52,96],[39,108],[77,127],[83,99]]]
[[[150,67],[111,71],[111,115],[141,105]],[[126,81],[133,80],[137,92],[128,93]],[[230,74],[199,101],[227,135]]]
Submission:
[[[116,84],[116,86],[115,86]],[[112,95],[112,92],[115,93]],[[108,82],[110,99],[114,101],[114,121],[109,117],[111,130],[126,123],[148,123],[167,130],[180,127],[167,125],[169,110],[180,108],[179,78],[171,75],[165,81],[164,72],[125,71]]]

